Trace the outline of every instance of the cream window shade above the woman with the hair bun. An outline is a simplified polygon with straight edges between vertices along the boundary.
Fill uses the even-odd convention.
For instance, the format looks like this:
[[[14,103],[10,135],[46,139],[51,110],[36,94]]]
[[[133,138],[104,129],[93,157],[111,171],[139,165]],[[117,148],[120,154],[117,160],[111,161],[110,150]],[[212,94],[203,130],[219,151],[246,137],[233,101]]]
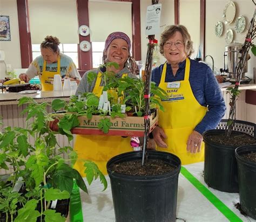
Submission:
[[[31,43],[56,36],[62,44],[79,43],[76,0],[28,0]]]

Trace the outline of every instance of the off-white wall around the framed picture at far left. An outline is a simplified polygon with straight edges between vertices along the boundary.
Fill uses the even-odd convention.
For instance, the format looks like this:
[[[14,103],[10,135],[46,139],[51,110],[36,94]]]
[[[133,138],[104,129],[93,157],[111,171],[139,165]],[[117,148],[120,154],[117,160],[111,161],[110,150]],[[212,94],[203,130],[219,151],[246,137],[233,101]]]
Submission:
[[[12,70],[21,68],[17,0],[0,0],[0,15],[10,18],[11,41],[0,41],[0,50],[5,52],[5,63],[11,64]]]

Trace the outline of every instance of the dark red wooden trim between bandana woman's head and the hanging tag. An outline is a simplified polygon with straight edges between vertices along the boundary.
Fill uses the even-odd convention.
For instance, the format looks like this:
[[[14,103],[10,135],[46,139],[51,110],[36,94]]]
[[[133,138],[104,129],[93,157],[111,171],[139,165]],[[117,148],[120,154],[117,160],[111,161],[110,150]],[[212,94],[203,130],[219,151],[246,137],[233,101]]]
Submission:
[[[142,43],[140,38],[140,0],[132,0],[132,56],[142,60]]]

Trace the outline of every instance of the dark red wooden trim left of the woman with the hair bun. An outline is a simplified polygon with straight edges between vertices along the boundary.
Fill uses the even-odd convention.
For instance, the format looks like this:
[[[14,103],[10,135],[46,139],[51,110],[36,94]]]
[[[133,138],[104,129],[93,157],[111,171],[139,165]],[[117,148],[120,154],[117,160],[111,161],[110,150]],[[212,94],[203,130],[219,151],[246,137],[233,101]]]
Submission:
[[[28,68],[32,62],[32,45],[29,26],[28,0],[17,0],[19,45],[21,47],[22,68]]]

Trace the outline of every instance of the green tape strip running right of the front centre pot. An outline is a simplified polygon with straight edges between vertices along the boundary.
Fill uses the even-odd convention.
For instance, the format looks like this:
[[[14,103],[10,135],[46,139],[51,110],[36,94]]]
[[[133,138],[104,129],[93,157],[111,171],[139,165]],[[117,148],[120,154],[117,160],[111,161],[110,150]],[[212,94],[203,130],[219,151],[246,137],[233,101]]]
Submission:
[[[223,215],[230,221],[242,220],[230,210],[220,199],[218,199],[210,190],[208,190],[196,177],[194,177],[186,168],[181,167],[181,174],[192,183],[199,192],[201,192]]]

